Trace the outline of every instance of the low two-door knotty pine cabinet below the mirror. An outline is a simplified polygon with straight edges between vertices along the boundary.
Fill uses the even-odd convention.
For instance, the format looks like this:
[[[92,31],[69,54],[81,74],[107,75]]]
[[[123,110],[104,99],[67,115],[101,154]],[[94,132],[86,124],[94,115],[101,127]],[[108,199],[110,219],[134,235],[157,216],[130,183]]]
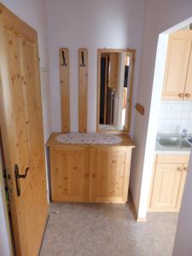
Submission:
[[[134,143],[128,135],[119,136],[124,141],[113,145],[64,144],[50,137],[52,201],[127,201]]]

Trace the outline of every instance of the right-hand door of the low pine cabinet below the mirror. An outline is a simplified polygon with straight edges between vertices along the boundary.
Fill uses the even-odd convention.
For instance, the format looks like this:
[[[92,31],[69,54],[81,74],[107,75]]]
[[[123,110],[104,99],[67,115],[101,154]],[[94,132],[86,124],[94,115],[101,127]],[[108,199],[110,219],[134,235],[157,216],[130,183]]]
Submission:
[[[90,148],[90,201],[125,202],[128,183],[131,149],[118,147]]]

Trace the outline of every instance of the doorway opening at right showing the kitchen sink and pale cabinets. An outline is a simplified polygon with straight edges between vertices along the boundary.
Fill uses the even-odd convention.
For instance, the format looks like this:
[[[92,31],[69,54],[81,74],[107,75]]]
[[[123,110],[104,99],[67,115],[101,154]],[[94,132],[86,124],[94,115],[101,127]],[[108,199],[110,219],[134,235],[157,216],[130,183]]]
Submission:
[[[159,35],[139,218],[153,214],[148,212],[178,215],[181,207],[192,135],[191,22],[184,20]]]

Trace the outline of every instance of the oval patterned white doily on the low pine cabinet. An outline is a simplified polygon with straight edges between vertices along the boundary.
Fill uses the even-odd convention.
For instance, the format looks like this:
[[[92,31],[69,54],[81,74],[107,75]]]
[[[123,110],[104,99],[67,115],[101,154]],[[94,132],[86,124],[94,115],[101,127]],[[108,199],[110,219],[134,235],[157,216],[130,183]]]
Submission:
[[[101,133],[63,133],[55,137],[60,143],[66,144],[117,144],[122,142],[122,138],[113,134]]]

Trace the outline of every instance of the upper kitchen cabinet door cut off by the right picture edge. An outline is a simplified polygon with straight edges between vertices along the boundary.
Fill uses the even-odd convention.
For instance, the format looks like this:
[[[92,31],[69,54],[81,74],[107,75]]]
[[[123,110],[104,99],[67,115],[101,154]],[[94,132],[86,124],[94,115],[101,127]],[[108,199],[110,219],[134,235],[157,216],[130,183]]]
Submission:
[[[192,45],[192,31],[191,31],[191,45]],[[186,85],[184,90],[184,100],[192,100],[192,46],[190,50],[189,67],[186,79]]]

